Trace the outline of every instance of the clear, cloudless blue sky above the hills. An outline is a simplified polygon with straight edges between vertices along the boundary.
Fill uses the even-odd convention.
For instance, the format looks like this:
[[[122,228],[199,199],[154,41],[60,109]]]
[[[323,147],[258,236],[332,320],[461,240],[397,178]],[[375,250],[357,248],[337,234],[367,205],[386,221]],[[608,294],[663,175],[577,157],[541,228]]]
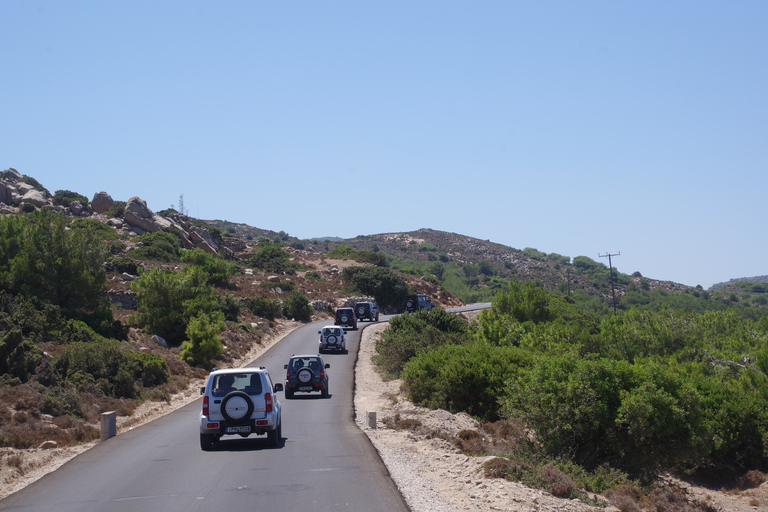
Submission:
[[[0,0],[0,167],[300,238],[768,274],[768,2]]]

